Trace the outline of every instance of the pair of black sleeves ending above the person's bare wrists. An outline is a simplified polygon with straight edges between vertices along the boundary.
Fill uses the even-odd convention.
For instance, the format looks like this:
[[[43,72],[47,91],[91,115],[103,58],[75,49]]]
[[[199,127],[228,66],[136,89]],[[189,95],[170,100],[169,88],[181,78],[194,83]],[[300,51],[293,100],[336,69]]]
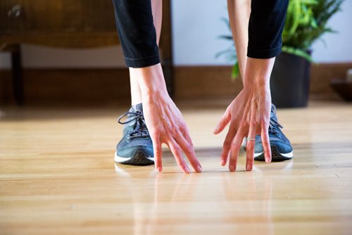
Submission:
[[[288,3],[289,0],[251,0],[248,57],[272,58],[281,52]],[[113,0],[113,5],[127,67],[160,63],[151,0]]]

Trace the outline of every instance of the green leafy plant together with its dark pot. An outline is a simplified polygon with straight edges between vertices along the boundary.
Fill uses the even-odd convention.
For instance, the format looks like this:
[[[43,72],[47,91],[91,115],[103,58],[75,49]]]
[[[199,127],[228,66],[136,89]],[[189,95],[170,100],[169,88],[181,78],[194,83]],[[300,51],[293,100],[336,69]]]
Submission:
[[[270,88],[272,103],[277,107],[304,107],[308,103],[310,84],[311,46],[326,32],[334,32],[327,27],[328,20],[341,10],[344,0],[290,0],[282,32],[282,53],[277,56]],[[222,39],[232,39],[228,35]],[[229,53],[229,50],[221,51]],[[232,50],[232,55],[233,55]],[[232,77],[239,74],[237,58]]]

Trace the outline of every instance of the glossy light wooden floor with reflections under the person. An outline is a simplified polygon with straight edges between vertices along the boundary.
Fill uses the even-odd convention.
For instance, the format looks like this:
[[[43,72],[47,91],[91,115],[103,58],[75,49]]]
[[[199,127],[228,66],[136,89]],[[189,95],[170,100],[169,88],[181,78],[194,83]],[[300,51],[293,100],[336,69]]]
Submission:
[[[234,173],[225,107],[181,109],[201,174],[115,165],[121,108],[2,108],[0,234],[352,234],[352,104],[278,110],[294,159]]]

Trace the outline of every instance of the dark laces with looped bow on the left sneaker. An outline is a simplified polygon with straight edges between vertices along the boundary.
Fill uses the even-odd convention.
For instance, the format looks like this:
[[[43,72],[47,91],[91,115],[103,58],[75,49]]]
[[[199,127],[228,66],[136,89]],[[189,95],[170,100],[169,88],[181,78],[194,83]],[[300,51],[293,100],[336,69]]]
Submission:
[[[126,115],[134,115],[134,117],[131,118],[130,120],[127,120],[126,122],[121,122],[121,119],[125,118]],[[149,136],[148,129],[146,128],[146,122],[144,120],[144,115],[140,111],[126,112],[126,113],[122,114],[120,116],[120,118],[118,118],[118,123],[124,125],[124,124],[130,123],[134,120],[136,120],[136,124],[133,127],[134,131],[130,132],[130,134],[129,134],[130,139]]]

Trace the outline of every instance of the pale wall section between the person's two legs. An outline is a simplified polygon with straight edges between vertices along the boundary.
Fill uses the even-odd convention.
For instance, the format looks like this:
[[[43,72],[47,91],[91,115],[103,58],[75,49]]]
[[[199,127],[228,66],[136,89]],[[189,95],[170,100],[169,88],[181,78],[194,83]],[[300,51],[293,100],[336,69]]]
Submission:
[[[225,65],[225,57],[215,58],[231,42],[218,39],[230,34],[220,20],[227,18],[226,0],[173,0],[172,43],[175,65]]]

